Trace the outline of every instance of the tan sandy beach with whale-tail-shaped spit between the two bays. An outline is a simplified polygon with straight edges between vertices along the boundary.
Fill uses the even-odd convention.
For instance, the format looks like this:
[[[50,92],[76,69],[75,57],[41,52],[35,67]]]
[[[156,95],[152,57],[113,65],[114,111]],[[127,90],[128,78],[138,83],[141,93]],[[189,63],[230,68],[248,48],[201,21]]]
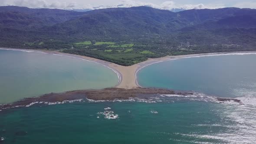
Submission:
[[[239,51],[239,52],[213,52],[213,53],[200,53],[200,54],[190,54],[190,55],[179,55],[179,56],[164,56],[155,59],[148,59],[144,62],[137,63],[131,66],[122,66],[117,65],[112,62],[107,62],[100,59],[91,58],[88,56],[79,56],[69,53],[63,53],[59,51],[50,51],[50,50],[40,50],[40,49],[12,49],[12,48],[4,48],[0,47],[3,50],[14,50],[14,51],[23,51],[23,52],[39,52],[43,54],[53,54],[55,56],[65,56],[69,58],[81,59],[88,62],[94,62],[98,65],[102,65],[111,69],[118,76],[118,84],[115,85],[114,88],[124,88],[124,89],[132,89],[132,88],[142,88],[138,84],[138,72],[146,66],[153,65],[160,62],[166,62],[177,59],[187,59],[187,58],[195,58],[195,57],[203,57],[203,56],[225,56],[225,55],[249,55],[256,54],[256,51]]]

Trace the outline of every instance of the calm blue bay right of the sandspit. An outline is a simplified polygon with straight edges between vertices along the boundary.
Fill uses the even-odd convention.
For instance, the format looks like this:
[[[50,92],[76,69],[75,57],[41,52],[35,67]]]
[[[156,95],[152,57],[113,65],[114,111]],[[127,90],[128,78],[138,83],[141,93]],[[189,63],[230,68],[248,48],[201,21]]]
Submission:
[[[144,87],[240,97],[256,94],[255,62],[255,54],[177,59],[145,67],[138,72],[138,83]]]

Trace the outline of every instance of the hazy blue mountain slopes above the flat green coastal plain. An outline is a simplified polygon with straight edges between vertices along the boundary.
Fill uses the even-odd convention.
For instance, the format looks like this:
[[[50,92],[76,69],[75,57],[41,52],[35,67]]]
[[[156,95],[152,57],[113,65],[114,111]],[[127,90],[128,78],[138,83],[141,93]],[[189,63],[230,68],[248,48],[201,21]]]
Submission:
[[[171,12],[151,7],[76,12],[0,7],[0,28],[38,31],[53,37],[133,39],[177,33],[180,29],[256,28],[254,9],[223,8]],[[149,36],[150,37],[150,36]],[[62,36],[63,39],[65,37]]]

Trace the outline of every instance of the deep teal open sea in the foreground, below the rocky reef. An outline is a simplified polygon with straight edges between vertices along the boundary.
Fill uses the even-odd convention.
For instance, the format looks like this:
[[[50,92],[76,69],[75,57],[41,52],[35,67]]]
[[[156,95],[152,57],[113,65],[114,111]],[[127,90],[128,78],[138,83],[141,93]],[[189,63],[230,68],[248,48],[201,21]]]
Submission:
[[[119,118],[108,120],[97,115],[106,107]],[[197,101],[33,106],[1,115],[0,135],[6,144],[219,144],[246,142],[241,138],[255,134],[226,111],[230,112],[223,105]]]

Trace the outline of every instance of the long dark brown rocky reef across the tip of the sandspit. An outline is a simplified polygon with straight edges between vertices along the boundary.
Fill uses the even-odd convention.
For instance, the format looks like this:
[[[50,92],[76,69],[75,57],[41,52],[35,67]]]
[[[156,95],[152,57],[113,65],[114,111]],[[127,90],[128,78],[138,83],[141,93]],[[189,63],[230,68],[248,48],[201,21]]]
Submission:
[[[55,102],[65,102],[65,101],[75,101],[75,100],[84,100],[86,98],[92,100],[125,100],[128,98],[143,97],[147,98],[147,95],[154,94],[179,94],[179,95],[193,95],[190,92],[178,92],[175,93],[173,90],[160,89],[160,88],[132,88],[132,89],[123,89],[123,88],[105,88],[101,90],[79,90],[79,91],[70,91],[64,93],[49,93],[42,95],[40,97],[34,98],[24,98],[20,101],[16,101],[12,104],[0,105],[1,109],[7,108],[17,108],[17,107],[26,107],[30,106],[33,103],[55,103]]]

